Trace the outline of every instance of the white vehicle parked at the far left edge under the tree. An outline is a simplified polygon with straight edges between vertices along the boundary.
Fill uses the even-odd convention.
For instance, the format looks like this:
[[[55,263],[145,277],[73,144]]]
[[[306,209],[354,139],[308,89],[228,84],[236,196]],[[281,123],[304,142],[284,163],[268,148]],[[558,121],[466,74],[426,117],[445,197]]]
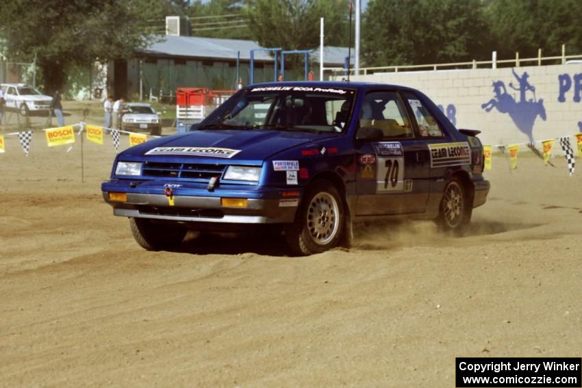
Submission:
[[[5,109],[18,110],[23,116],[31,112],[48,112],[51,107],[51,96],[40,93],[26,83],[1,83],[4,93]]]

